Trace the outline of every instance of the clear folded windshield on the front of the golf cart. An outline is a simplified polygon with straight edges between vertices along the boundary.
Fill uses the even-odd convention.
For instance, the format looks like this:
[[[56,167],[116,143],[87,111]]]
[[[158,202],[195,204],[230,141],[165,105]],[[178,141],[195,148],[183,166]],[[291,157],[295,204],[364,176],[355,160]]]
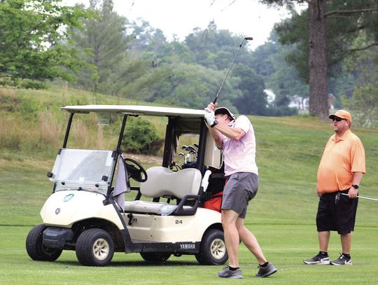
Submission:
[[[50,181],[55,191],[87,190],[106,195],[115,163],[113,151],[62,148]]]

